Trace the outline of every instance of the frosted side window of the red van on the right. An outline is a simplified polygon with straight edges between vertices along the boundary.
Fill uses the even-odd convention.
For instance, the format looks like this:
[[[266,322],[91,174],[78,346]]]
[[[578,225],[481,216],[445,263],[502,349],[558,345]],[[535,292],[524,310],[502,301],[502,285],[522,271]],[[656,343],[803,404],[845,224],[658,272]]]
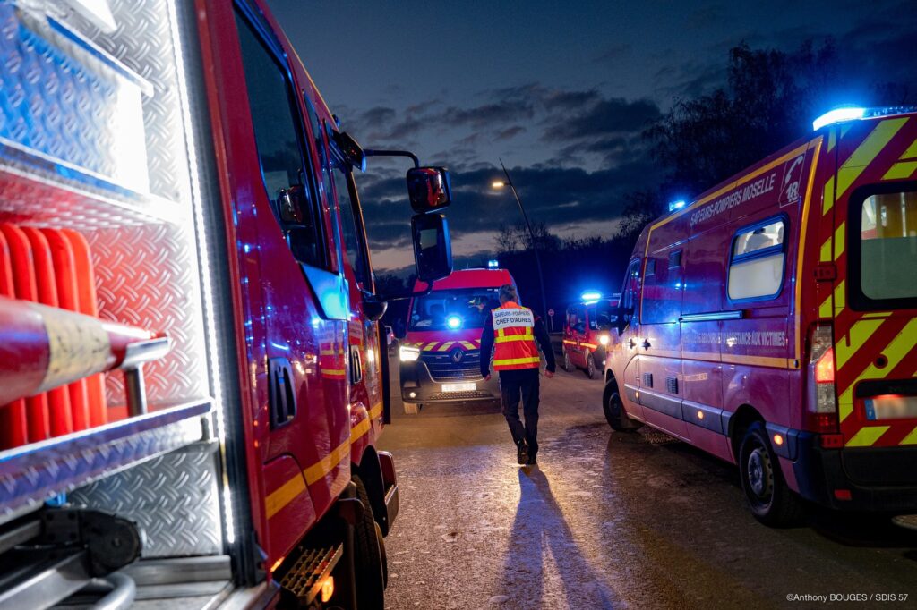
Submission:
[[[730,300],[767,300],[779,295],[786,262],[786,224],[783,218],[770,219],[736,232],[726,282]]]

